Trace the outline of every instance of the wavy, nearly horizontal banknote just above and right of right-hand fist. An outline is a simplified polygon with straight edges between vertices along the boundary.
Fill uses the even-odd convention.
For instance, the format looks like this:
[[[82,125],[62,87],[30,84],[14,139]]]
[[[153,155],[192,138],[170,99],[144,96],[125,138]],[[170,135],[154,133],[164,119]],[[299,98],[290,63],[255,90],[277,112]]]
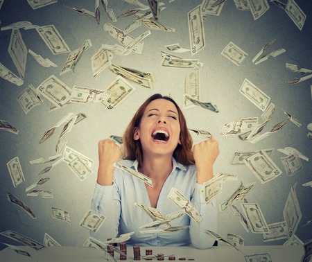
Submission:
[[[220,128],[220,135],[236,135],[253,130],[258,125],[258,117],[249,117],[245,119],[237,119],[229,122]]]

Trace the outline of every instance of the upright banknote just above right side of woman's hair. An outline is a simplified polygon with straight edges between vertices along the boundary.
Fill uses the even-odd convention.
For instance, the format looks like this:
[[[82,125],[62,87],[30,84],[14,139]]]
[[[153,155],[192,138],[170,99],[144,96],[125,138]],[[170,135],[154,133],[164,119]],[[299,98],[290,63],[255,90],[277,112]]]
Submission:
[[[196,100],[200,100],[200,78],[199,78],[199,71],[194,70],[191,73],[188,73],[184,79],[184,92],[183,94],[188,94],[192,98]],[[193,104],[186,96],[183,97],[183,107],[185,109],[195,107],[196,105]]]

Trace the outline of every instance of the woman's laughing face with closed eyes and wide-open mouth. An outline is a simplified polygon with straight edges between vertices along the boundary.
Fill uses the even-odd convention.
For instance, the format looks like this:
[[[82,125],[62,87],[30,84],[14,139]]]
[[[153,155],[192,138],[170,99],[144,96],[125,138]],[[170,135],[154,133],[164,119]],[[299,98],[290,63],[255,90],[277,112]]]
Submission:
[[[180,122],[175,105],[162,98],[150,102],[134,139],[140,139],[144,155],[172,156],[180,143]]]

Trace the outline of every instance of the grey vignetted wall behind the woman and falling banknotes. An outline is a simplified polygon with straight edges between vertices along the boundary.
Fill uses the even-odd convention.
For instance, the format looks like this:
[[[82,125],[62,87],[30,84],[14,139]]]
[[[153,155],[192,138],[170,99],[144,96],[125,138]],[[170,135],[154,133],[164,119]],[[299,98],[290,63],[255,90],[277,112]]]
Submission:
[[[0,119],[9,121],[19,130],[18,135],[0,130],[0,232],[12,229],[39,242],[43,242],[46,232],[61,245],[83,245],[89,236],[89,232],[80,227],[78,223],[89,210],[92,200],[98,166],[97,142],[111,134],[121,136],[137,107],[152,94],[170,95],[182,107],[184,78],[192,69],[172,69],[160,66],[162,60],[160,51],[168,51],[165,46],[175,43],[179,43],[186,49],[190,48],[187,12],[202,2],[199,0],[175,0],[172,3],[163,0],[166,9],[160,13],[159,21],[166,26],[175,28],[175,33],[152,30],[151,35],[144,39],[144,49],[141,54],[132,52],[127,56],[114,55],[112,60],[114,64],[141,71],[152,71],[157,80],[153,84],[154,89],[146,89],[133,84],[137,89],[135,93],[113,110],[107,110],[99,103],[90,105],[71,104],[49,112],[50,103],[43,98],[44,103],[42,105],[34,107],[27,115],[24,114],[17,102],[19,93],[28,85],[32,84],[37,87],[52,74],[60,78],[70,88],[73,85],[81,85],[105,89],[116,78],[116,75],[108,69],[100,73],[98,78],[94,78],[92,76],[91,57],[102,44],[118,44],[103,30],[105,23],[111,23],[123,30],[134,21],[135,17],[120,18],[114,23],[107,17],[100,4],[101,23],[98,25],[95,19],[85,17],[64,7],[66,5],[78,10],[85,8],[94,11],[94,2],[89,0],[59,0],[57,3],[33,10],[27,1],[5,0],[1,7],[1,26],[17,21],[31,21],[39,26],[53,24],[71,51],[78,49],[87,39],[91,40],[92,47],[83,54],[74,72],[71,71],[60,76],[60,70],[69,53],[53,55],[35,29],[20,29],[27,49],[35,51],[43,58],[49,58],[58,67],[42,67],[31,55],[28,55],[24,85],[17,87],[0,78]],[[141,2],[147,4],[147,1]],[[286,62],[297,64],[299,68],[312,69],[312,4],[311,1],[297,0],[297,4],[307,15],[302,30],[295,26],[284,10],[272,2],[269,4],[268,12],[256,21],[250,12],[237,10],[232,0],[225,1],[220,16],[207,15],[205,21],[207,44],[205,49],[193,57],[189,52],[177,55],[183,58],[198,58],[200,62],[204,63],[204,67],[200,69],[201,100],[215,103],[220,112],[215,114],[201,107],[193,107],[183,110],[183,112],[187,117],[189,128],[208,130],[218,139],[220,155],[214,166],[214,171],[230,173],[239,178],[238,181],[225,182],[223,193],[217,198],[218,204],[231,195],[241,181],[244,184],[256,182],[254,189],[250,191],[246,199],[248,202],[259,203],[268,224],[279,222],[284,220],[283,209],[291,186],[297,182],[296,193],[302,211],[302,220],[296,235],[305,242],[312,237],[311,225],[302,227],[312,219],[312,189],[302,186],[302,184],[312,180],[311,161],[302,161],[304,167],[302,171],[289,177],[286,175],[280,160],[284,154],[277,149],[291,146],[300,150],[307,157],[312,157],[312,141],[307,137],[308,130],[306,128],[312,122],[310,87],[312,82],[306,80],[297,85],[285,83],[287,80],[301,77],[300,74],[286,69]],[[136,7],[121,0],[111,0],[109,1],[109,8],[112,8],[115,15],[118,16]],[[132,31],[130,35],[137,37],[145,30],[147,30],[146,26],[142,25]],[[0,31],[0,62],[18,75],[17,69],[8,54],[10,34],[11,30]],[[270,57],[267,61],[254,65],[252,63],[254,55],[264,44],[273,39],[276,39],[275,44],[266,52],[280,48],[286,49],[286,52],[277,58]],[[248,53],[248,57],[239,67],[220,55],[224,47],[231,41]],[[171,52],[168,51],[168,53]],[[239,88],[245,78],[248,78],[268,94],[271,102],[276,106],[275,114],[265,130],[270,130],[275,123],[286,118],[286,114],[279,107],[297,118],[302,123],[302,127],[298,128],[289,122],[279,132],[254,144],[240,141],[233,136],[221,137],[219,134],[220,127],[225,123],[251,116],[258,116],[259,122],[261,121],[261,110],[239,93]],[[69,112],[87,114],[85,121],[79,123],[70,133],[65,135],[68,140],[67,146],[94,160],[93,173],[84,182],[80,182],[64,162],[41,177],[37,173],[49,164],[31,165],[29,163],[33,159],[40,157],[46,159],[55,155],[55,143],[62,126],[44,143],[39,144],[39,141],[46,130]],[[202,141],[195,136],[193,139],[194,143]],[[231,164],[235,151],[253,151],[266,148],[274,148],[271,158],[284,172],[272,182],[261,184],[247,166],[233,166]],[[17,156],[21,162],[26,181],[14,188],[6,163]],[[26,196],[25,189],[42,177],[50,177],[51,179],[46,184],[38,186],[37,189],[51,191],[54,198]],[[31,207],[37,218],[33,220],[19,207],[8,202],[7,193],[12,193],[28,207]],[[239,204],[236,206],[239,207]],[[51,207],[69,211],[71,224],[53,219]],[[244,238],[245,245],[283,245],[286,241],[284,239],[263,243],[261,234],[246,232],[239,218],[233,216],[229,209],[218,213],[218,225],[220,236],[226,238],[227,233],[238,234]],[[10,241],[4,236],[0,236],[0,242],[16,244],[15,241]],[[1,244],[0,247],[5,246]]]

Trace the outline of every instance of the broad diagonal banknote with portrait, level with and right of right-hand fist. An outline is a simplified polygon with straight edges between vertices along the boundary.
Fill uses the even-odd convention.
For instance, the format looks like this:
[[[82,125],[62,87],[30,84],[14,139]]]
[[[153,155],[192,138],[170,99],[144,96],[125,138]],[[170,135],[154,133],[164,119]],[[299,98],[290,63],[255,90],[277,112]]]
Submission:
[[[243,161],[262,184],[274,180],[283,173],[263,150]]]

